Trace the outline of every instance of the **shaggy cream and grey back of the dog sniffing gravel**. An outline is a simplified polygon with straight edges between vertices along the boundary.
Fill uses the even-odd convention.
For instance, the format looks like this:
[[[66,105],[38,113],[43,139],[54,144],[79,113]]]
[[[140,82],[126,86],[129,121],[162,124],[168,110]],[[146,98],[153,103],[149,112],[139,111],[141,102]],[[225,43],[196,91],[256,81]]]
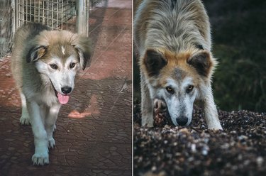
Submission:
[[[211,50],[209,17],[200,0],[144,0],[135,5],[134,38],[140,55],[143,48],[178,53],[202,45]]]

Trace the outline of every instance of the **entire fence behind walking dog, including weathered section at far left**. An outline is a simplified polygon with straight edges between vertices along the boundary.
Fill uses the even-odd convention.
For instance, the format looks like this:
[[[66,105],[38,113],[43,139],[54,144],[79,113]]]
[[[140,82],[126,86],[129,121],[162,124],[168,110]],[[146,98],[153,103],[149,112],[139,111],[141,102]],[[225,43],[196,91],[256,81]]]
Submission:
[[[42,23],[52,30],[89,35],[89,9],[101,0],[0,0],[0,57],[11,52],[16,29]]]

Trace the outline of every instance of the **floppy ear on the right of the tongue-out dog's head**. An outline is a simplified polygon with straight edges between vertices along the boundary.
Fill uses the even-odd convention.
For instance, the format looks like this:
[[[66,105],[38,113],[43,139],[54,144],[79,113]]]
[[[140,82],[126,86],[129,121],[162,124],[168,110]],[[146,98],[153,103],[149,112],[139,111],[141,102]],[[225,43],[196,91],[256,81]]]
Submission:
[[[74,42],[72,45],[77,50],[79,54],[79,62],[82,67],[82,70],[86,68],[86,65],[90,65],[91,63],[91,46],[89,38],[84,36],[75,36]]]

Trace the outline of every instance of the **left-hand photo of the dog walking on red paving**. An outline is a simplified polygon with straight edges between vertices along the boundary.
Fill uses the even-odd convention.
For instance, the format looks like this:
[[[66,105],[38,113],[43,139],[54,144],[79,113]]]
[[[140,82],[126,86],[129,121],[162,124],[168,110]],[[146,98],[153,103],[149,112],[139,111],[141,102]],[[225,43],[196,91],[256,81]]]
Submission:
[[[0,175],[132,175],[132,1],[0,5]]]

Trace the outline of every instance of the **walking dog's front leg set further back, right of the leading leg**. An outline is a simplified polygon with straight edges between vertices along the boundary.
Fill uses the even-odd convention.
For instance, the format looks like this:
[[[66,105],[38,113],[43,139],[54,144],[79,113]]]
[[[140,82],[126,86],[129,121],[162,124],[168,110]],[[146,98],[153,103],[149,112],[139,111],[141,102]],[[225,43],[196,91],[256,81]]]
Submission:
[[[55,140],[52,138],[52,133],[55,131],[55,122],[60,110],[61,104],[53,104],[51,107],[47,107],[47,115],[45,119],[45,130],[48,137],[48,147],[55,147]]]

